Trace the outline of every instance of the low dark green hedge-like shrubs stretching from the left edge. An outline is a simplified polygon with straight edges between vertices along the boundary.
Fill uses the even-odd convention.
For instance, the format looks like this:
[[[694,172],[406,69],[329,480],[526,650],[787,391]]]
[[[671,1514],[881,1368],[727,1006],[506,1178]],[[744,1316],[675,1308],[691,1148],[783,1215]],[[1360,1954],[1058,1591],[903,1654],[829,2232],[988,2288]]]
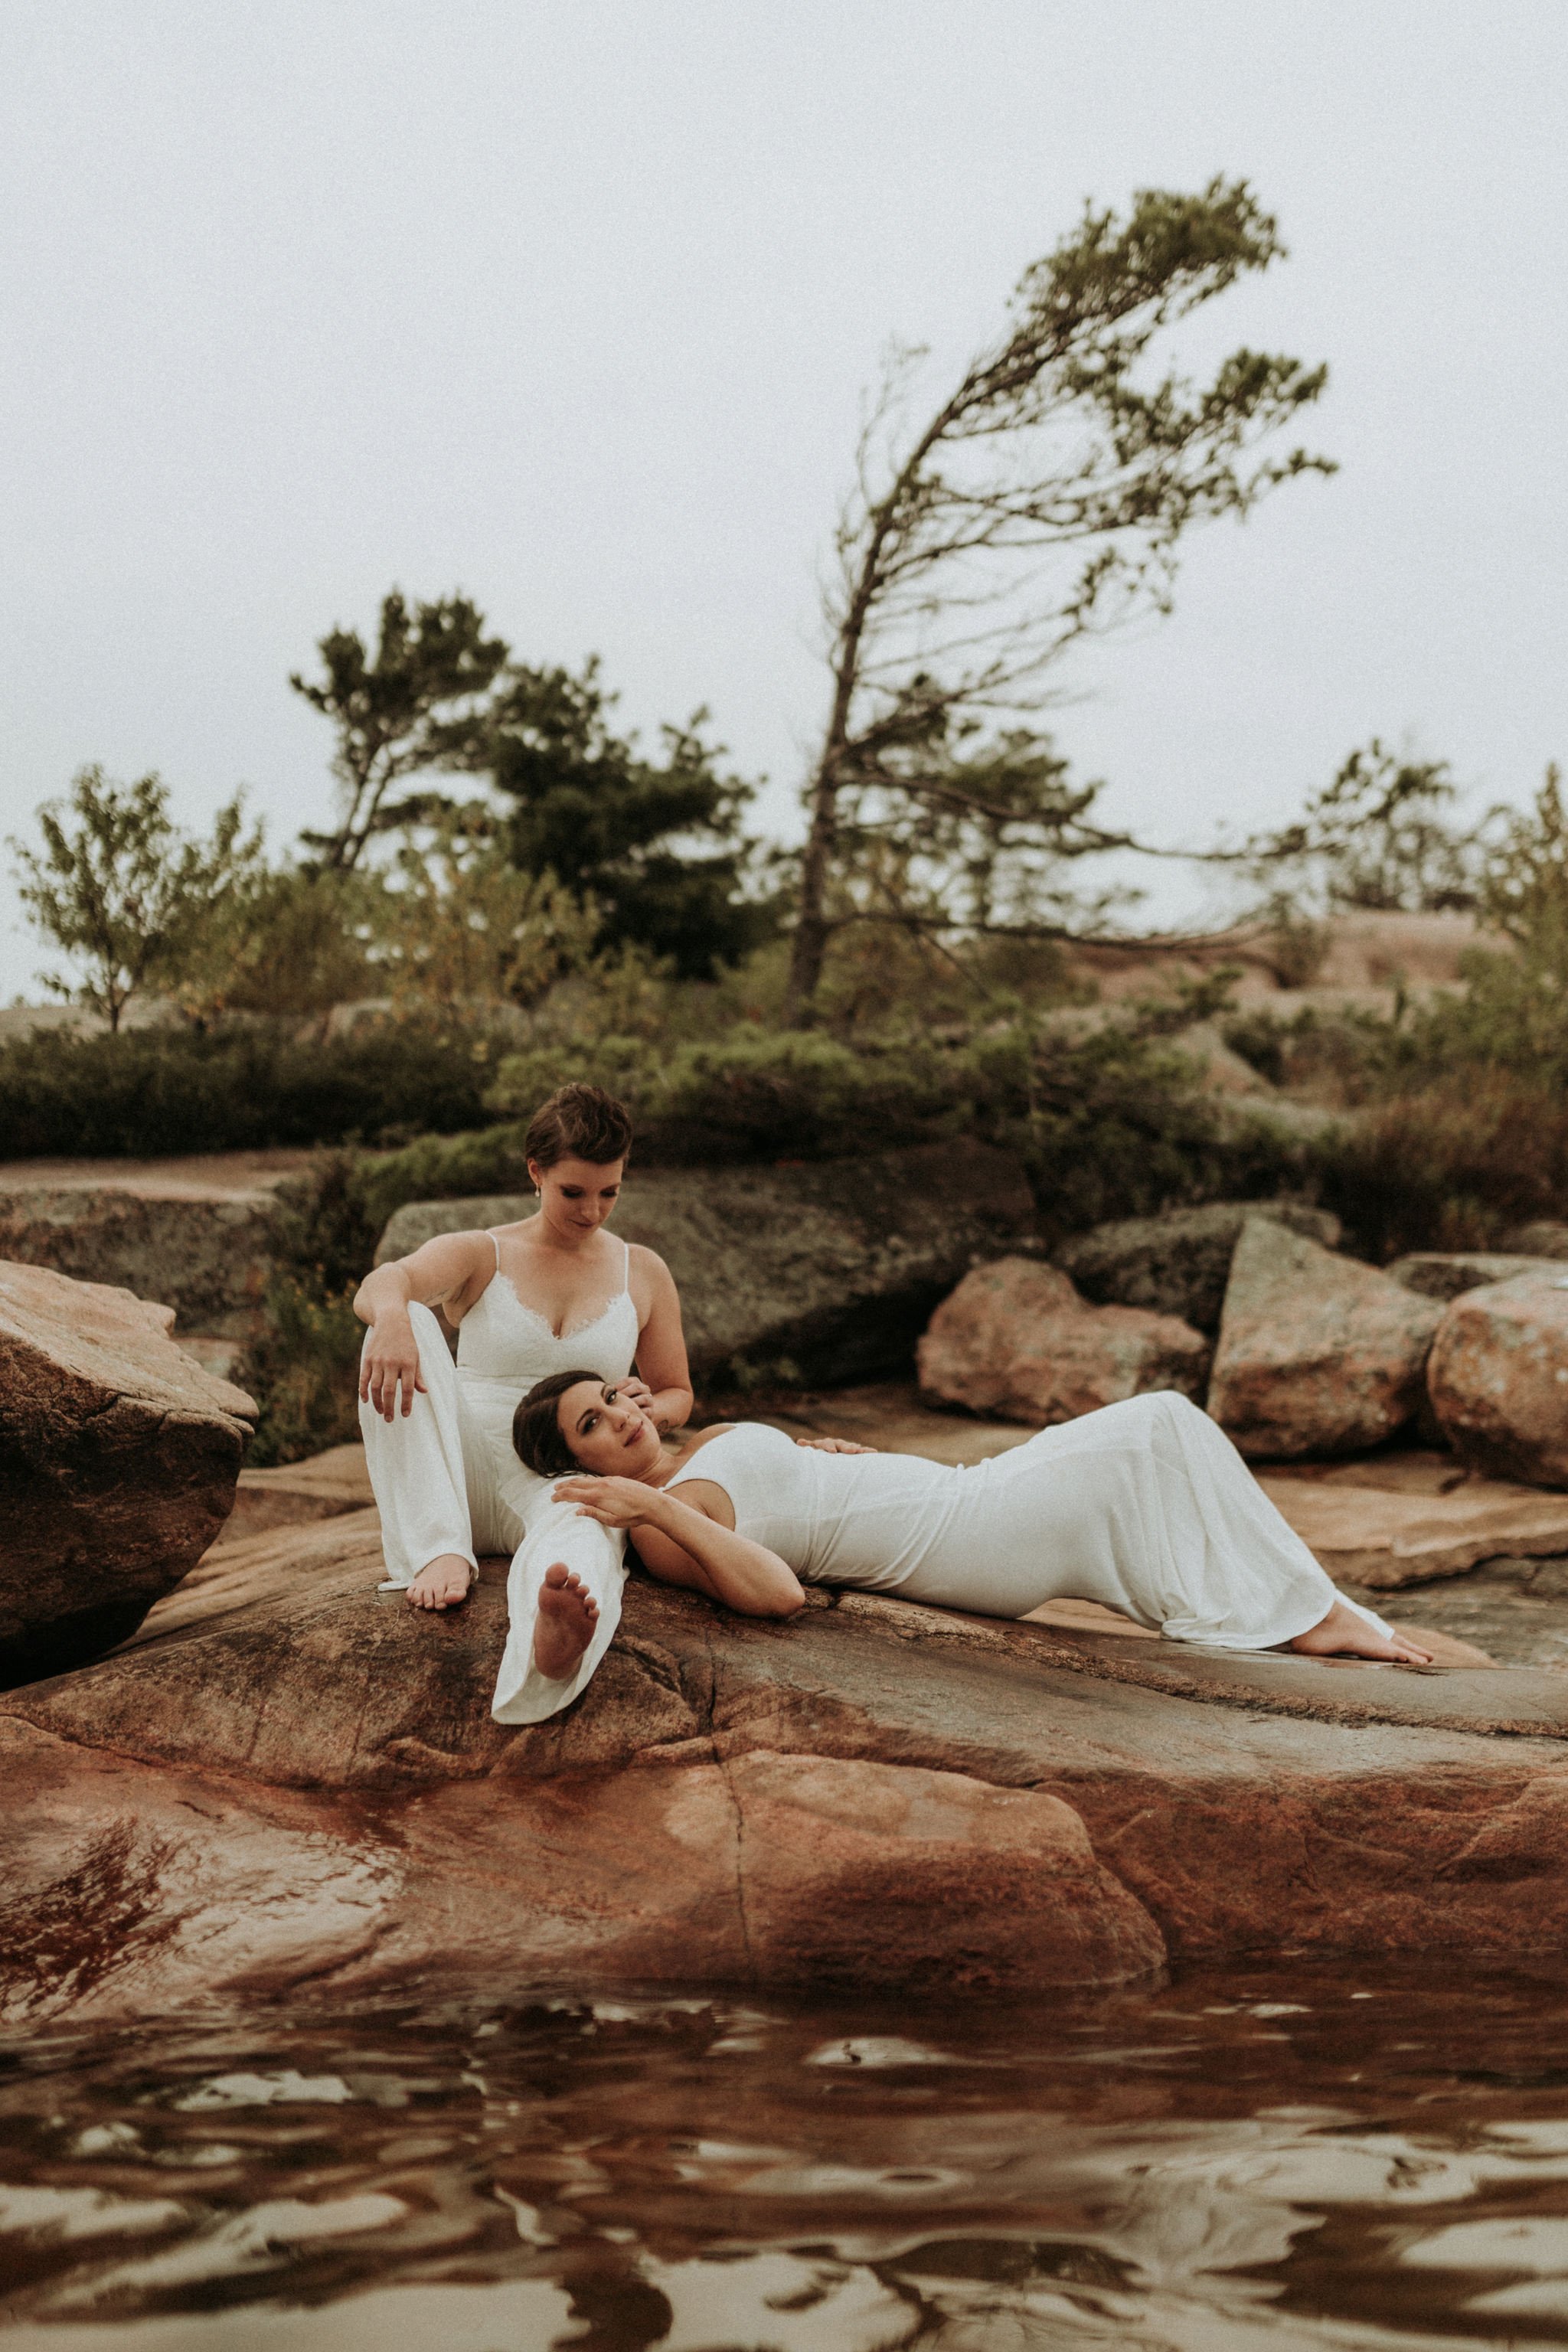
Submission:
[[[19,1160],[449,1134],[487,1124],[496,1058],[489,1033],[430,1021],[364,1021],[327,1040],[282,1023],[35,1030],[0,1044],[0,1131]]]

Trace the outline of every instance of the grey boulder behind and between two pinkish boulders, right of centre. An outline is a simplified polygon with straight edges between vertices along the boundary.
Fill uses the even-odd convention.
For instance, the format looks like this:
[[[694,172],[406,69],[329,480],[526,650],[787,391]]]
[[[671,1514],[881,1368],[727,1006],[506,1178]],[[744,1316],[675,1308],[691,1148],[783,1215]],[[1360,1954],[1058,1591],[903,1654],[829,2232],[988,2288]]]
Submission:
[[[1079,1232],[1056,1251],[1056,1263],[1095,1305],[1147,1308],[1175,1315],[1211,1336],[1220,1329],[1229,1261],[1248,1216],[1274,1218],[1326,1249],[1340,1242],[1328,1209],[1298,1200],[1213,1200],[1204,1209],[1164,1216],[1124,1216]]]

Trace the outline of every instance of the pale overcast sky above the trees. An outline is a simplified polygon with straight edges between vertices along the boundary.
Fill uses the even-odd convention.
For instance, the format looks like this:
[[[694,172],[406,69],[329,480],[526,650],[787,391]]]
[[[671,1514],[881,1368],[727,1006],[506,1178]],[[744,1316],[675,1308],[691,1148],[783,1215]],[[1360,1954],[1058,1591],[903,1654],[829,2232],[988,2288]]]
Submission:
[[[0,795],[327,807],[287,689],[473,593],[795,826],[816,572],[889,336],[957,367],[1081,200],[1246,174],[1194,336],[1331,362],[1331,482],[1185,560],[1058,734],[1161,840],[1373,731],[1523,800],[1563,724],[1561,0],[9,0]],[[1197,898],[1168,901],[1197,913]],[[0,898],[0,995],[40,948]]]

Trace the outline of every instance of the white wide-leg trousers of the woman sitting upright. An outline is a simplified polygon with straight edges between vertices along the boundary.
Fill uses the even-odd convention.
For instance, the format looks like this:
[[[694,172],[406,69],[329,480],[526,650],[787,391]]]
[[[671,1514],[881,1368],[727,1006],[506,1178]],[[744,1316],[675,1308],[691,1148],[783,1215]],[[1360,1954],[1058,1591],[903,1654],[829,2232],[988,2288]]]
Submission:
[[[571,1705],[616,1635],[625,1538],[555,1503],[550,1484],[517,1461],[517,1385],[454,1364],[430,1308],[411,1305],[409,1322],[425,1381],[414,1409],[383,1421],[360,1404],[364,1461],[381,1510],[381,1590],[404,1590],[447,1555],[477,1569],[480,1552],[510,1552],[510,1635],[491,1712],[505,1724],[534,1724]],[[564,1682],[534,1665],[538,1588],[555,1562],[574,1569],[599,1604],[592,1642]]]

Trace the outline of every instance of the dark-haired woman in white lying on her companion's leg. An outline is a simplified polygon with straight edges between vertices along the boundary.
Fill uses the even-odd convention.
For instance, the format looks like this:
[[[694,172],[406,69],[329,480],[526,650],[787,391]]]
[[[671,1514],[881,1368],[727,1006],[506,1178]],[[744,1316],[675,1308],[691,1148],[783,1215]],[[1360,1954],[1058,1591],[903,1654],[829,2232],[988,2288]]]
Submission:
[[[804,1578],[999,1618],[1091,1599],[1173,1642],[1429,1663],[1335,1590],[1208,1414],[1168,1390],[952,1470],[757,1421],[668,1461],[637,1397],[562,1371],[517,1406],[515,1444],[557,1505],[630,1529],[654,1576],[745,1616],[792,1616]]]

